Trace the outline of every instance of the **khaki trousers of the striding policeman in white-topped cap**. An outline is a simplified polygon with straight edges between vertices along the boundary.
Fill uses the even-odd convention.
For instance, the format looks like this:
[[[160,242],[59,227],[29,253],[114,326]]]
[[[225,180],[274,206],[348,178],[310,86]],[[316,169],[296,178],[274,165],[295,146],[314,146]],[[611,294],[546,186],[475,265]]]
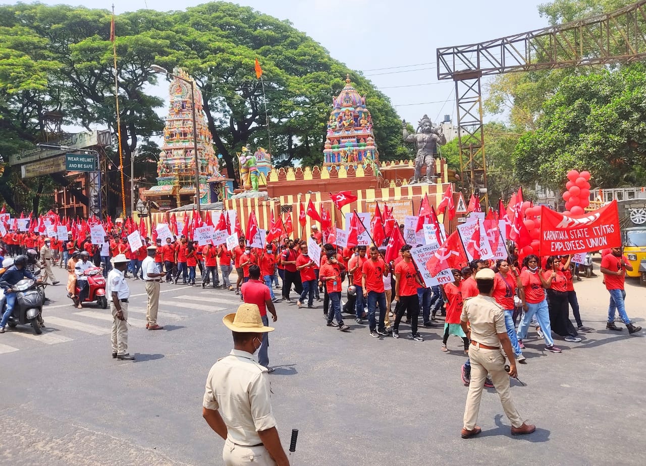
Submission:
[[[495,390],[498,392],[505,414],[514,427],[521,427],[523,419],[512,401],[512,393],[509,389],[509,374],[505,372],[505,357],[501,350],[489,350],[469,345],[469,359],[471,360],[471,382],[469,383],[469,392],[466,395],[464,429],[471,431],[478,420],[480,398],[483,394],[487,372],[491,376],[492,382],[494,382]]]

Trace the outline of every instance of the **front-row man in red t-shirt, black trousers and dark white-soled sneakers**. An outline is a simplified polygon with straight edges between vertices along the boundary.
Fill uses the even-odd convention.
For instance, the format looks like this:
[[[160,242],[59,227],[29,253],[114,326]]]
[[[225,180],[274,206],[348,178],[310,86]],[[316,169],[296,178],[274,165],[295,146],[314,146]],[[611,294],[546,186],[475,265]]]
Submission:
[[[422,283],[410,255],[411,249],[410,245],[402,246],[402,261],[395,266],[395,299],[399,301],[399,309],[397,309],[397,316],[393,324],[393,338],[399,338],[399,323],[406,311],[410,310],[411,334],[409,338],[415,341],[424,341],[417,332],[417,318],[419,317],[417,286]]]

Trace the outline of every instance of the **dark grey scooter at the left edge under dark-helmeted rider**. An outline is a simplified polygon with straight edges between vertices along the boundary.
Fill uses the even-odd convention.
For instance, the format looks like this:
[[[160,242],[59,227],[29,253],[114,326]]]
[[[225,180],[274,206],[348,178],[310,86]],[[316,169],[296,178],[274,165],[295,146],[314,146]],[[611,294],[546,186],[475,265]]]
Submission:
[[[39,272],[36,272],[36,275]],[[12,329],[17,325],[31,325],[36,335],[43,333],[45,327],[41,313],[45,302],[45,287],[47,284],[40,281],[24,278],[12,289],[16,290],[16,305],[7,324]],[[5,312],[6,300],[4,290],[0,290],[0,309]]]

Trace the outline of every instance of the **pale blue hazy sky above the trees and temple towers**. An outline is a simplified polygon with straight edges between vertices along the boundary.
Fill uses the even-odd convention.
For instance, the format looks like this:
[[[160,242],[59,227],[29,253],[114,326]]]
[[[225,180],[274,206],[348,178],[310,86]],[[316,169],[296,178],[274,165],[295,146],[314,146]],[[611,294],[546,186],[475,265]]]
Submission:
[[[242,0],[235,3],[290,21],[324,46],[333,58],[363,72],[390,97],[397,113],[406,121],[416,123],[428,114],[437,123],[445,114],[451,115],[455,122],[455,87],[452,81],[437,80],[436,49],[547,26],[547,19],[540,17],[537,10],[537,5],[545,1]],[[205,2],[45,0],[43,3],[103,9],[109,9],[114,3],[119,14],[145,8],[178,10]],[[162,83],[160,88],[149,92],[167,98],[167,83]],[[165,108],[160,109],[163,116],[165,112]],[[375,125],[379,122],[375,121]]]

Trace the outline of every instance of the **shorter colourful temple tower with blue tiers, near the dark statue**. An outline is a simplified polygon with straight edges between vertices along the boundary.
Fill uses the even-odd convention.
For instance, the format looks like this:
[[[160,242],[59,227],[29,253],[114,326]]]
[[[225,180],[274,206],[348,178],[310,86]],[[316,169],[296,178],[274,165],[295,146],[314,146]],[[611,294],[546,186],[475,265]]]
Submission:
[[[366,97],[351,85],[349,75],[343,90],[333,99],[323,154],[328,166],[379,161]]]

